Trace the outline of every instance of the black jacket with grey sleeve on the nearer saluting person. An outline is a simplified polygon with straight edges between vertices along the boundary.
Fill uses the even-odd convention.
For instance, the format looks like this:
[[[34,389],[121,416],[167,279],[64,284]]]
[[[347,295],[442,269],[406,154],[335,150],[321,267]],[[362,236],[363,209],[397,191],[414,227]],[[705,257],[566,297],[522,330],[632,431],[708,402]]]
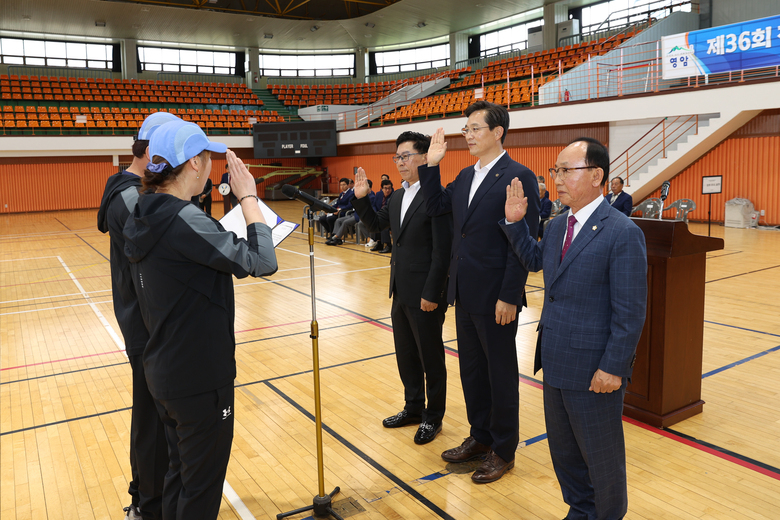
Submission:
[[[141,195],[124,228],[149,343],[144,370],[156,399],[196,395],[236,377],[233,278],[276,272],[271,229],[236,237],[198,208]]]

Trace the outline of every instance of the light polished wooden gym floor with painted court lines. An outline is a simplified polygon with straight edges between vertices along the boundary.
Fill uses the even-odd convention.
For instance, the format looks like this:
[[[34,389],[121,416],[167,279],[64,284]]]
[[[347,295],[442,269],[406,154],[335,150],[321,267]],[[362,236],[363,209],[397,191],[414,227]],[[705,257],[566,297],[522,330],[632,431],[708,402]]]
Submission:
[[[300,220],[297,202],[271,205]],[[119,519],[130,502],[130,367],[111,306],[108,237],[95,221],[96,211],[0,216],[2,520]],[[780,232],[712,232],[726,249],[707,265],[707,404],[671,430],[626,421],[629,519],[778,518]],[[311,504],[318,490],[305,237],[292,235],[277,255],[273,277],[235,281],[236,427],[224,519],[275,518]],[[562,518],[541,374],[532,374],[541,274],[529,278],[517,335],[516,466],[478,486],[440,458],[468,435],[453,309],[444,431],[420,447],[414,427],[382,428],[403,406],[388,260],[317,239],[326,491],[340,486],[336,504],[355,519]]]

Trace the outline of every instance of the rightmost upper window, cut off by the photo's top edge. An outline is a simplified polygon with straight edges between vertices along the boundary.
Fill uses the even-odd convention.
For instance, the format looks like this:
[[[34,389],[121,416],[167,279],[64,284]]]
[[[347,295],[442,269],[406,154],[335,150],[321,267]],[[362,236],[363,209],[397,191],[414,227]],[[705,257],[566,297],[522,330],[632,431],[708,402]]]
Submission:
[[[582,33],[607,31],[643,22],[648,17],[663,18],[673,10],[690,12],[691,4],[680,5],[680,0],[608,0],[582,8]]]

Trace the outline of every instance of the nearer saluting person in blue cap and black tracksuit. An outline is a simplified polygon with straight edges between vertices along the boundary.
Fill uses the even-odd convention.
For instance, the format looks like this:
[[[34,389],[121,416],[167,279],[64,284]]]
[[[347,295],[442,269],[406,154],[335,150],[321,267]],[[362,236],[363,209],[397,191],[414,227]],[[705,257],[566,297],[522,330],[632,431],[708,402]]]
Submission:
[[[231,190],[247,222],[238,238],[190,203],[227,153]],[[193,123],[158,128],[143,191],[124,228],[149,341],[146,382],[165,425],[170,461],[163,517],[216,519],[233,440],[236,377],[233,276],[276,272],[271,228],[249,170]]]

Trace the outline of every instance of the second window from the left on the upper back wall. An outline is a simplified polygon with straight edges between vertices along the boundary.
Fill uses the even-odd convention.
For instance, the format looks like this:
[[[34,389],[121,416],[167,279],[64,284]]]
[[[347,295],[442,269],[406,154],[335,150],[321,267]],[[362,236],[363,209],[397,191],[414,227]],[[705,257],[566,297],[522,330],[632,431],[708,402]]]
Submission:
[[[145,71],[190,72],[197,74],[236,73],[233,52],[197,51],[167,47],[138,47],[138,59]]]

